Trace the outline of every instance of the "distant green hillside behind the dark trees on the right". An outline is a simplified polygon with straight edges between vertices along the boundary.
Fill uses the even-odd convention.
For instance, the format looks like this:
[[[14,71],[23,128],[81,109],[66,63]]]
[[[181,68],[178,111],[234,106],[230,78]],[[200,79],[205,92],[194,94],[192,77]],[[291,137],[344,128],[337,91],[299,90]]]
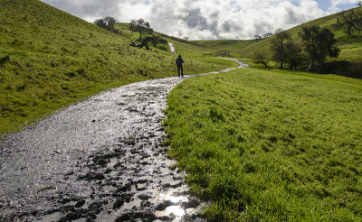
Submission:
[[[362,13],[362,7],[354,8]],[[347,11],[348,12],[348,11]],[[362,32],[354,32],[353,36],[348,36],[345,30],[337,28],[337,20],[341,13],[331,14],[326,17],[319,18],[317,20],[310,21],[308,23],[300,24],[294,28],[291,28],[287,32],[291,34],[291,37],[295,40],[299,40],[298,33],[301,31],[303,26],[319,25],[320,27],[327,27],[335,34],[335,38],[338,41],[338,47],[340,48],[340,54],[338,58],[330,59],[337,61],[348,61],[352,65],[349,70],[345,73],[338,74],[353,74],[362,78]],[[253,58],[255,52],[262,51],[268,58],[271,58],[271,38],[254,41],[194,41],[197,44],[204,45],[209,48],[208,51],[223,52],[228,51],[233,54],[234,57],[240,58]]]

